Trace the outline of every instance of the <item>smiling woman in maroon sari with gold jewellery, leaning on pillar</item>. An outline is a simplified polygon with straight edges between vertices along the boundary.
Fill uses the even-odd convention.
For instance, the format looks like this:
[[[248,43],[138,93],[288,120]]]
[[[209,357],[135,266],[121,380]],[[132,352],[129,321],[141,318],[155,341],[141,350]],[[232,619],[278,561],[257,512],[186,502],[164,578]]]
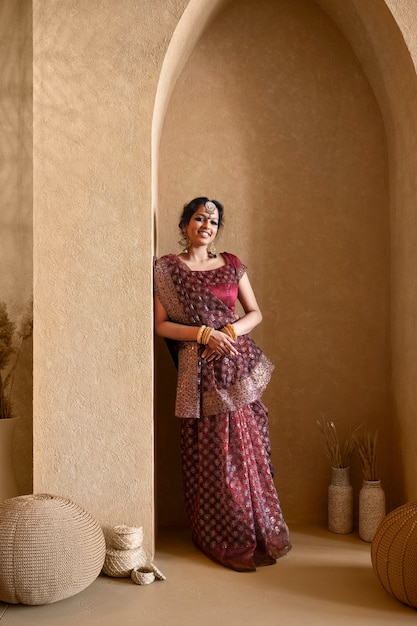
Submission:
[[[216,200],[186,204],[179,255],[155,264],[155,330],[178,366],[186,510],[193,541],[237,571],[269,565],[291,547],[269,462],[268,414],[260,398],[272,363],[248,333],[262,320],[246,267],[216,255],[223,222]],[[239,300],[244,315],[235,313]]]

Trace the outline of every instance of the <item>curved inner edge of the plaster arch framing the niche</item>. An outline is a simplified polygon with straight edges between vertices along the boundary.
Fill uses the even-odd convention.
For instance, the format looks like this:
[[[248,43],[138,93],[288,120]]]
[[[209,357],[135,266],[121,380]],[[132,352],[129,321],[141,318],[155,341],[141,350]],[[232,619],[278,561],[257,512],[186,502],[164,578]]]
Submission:
[[[312,0],[313,1],[313,0]],[[415,183],[416,166],[414,165],[413,150],[416,149],[417,118],[412,109],[417,110],[417,80],[415,67],[410,51],[402,36],[401,30],[390,9],[390,2],[380,0],[376,3],[361,3],[356,0],[346,0],[344,3],[335,0],[314,0],[336,23],[346,40],[352,46],[365,74],[373,88],[380,106],[387,135],[389,155],[390,181],[390,214],[391,214],[391,245],[393,255],[391,260],[392,296],[391,296],[391,344],[393,351],[393,409],[395,419],[391,424],[392,439],[397,442],[394,453],[395,463],[398,463],[397,474],[392,479],[403,486],[397,491],[391,506],[398,504],[405,497],[417,493],[417,478],[413,474],[414,456],[412,445],[415,447],[415,435],[407,423],[412,415],[412,407],[417,398],[411,391],[411,373],[417,367],[410,348],[406,348],[407,341],[416,346],[417,339],[411,336],[412,312],[417,303],[407,286],[407,272],[412,269],[410,258],[404,258],[401,249],[402,242],[408,245],[408,234],[404,228],[404,209],[401,206],[404,199],[407,203],[407,216],[410,222],[413,208],[415,210]],[[215,0],[210,6],[192,0],[188,3],[177,29],[170,42],[167,55],[158,83],[155,99],[154,117],[152,124],[152,198],[155,218],[158,213],[158,167],[159,143],[162,126],[165,119],[168,103],[175,83],[192,53],[195,45],[210,20],[222,10],[228,0]],[[398,68],[401,68],[401,72]],[[400,74],[400,76],[399,76]],[[407,103],[400,100],[401,90],[399,83],[407,85]],[[400,120],[400,124],[399,124]],[[414,131],[414,132],[413,132]],[[405,156],[404,156],[405,155]],[[399,243],[398,238],[401,239]],[[415,261],[416,259],[414,259]],[[405,290],[405,291],[404,291]],[[406,293],[405,293],[406,292]],[[399,302],[404,302],[405,294],[407,309],[399,310]],[[404,329],[405,327],[405,329]],[[414,354],[416,352],[414,351]],[[400,447],[408,448],[404,466],[400,468]],[[381,453],[388,453],[384,449]],[[404,454],[404,453],[403,453]]]

